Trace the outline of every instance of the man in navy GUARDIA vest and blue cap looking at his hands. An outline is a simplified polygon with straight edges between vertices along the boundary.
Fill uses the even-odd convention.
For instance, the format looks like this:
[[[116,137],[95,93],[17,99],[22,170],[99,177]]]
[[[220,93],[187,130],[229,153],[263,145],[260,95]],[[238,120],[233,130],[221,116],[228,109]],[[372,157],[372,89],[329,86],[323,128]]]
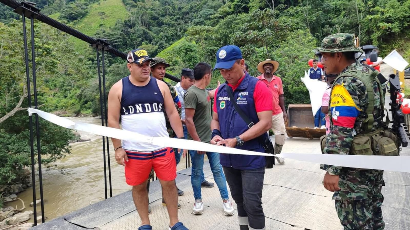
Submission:
[[[261,80],[243,70],[244,59],[237,46],[224,46],[216,53],[215,69],[226,80],[215,92],[211,143],[264,152],[258,137],[272,126],[272,94]],[[251,128],[235,111],[230,90],[239,109],[254,123]],[[238,209],[240,230],[265,229],[262,187],[265,157],[220,154],[226,181]]]

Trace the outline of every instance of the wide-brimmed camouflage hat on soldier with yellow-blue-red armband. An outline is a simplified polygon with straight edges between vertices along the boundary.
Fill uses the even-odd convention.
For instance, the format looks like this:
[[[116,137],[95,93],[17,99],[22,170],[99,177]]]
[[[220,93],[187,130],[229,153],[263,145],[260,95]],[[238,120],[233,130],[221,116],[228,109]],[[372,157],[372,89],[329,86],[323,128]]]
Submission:
[[[321,47],[316,48],[313,52],[360,52],[363,50],[355,46],[355,35],[338,33],[327,36],[323,39]]]

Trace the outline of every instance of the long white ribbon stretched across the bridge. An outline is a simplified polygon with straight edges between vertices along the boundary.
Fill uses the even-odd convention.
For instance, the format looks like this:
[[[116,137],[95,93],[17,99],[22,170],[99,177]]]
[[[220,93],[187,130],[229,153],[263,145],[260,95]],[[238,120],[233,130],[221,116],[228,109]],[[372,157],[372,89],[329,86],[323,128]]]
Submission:
[[[93,125],[82,122],[73,122],[67,118],[62,118],[39,109],[28,109],[29,116],[33,113],[38,114],[43,119],[60,125],[64,128],[81,130],[105,137],[112,137],[120,140],[137,141],[147,144],[167,146],[172,148],[182,148],[197,151],[207,151],[227,154],[254,155],[254,156],[272,156],[267,153],[229,148],[225,146],[211,145],[199,141],[169,138],[169,137],[147,137],[136,132],[120,130],[116,128]],[[335,166],[361,168],[361,169],[379,169],[388,171],[398,171],[410,173],[410,157],[408,156],[360,156],[360,155],[332,155],[332,154],[306,154],[306,153],[281,153],[277,157],[295,159],[305,162],[328,164]]]

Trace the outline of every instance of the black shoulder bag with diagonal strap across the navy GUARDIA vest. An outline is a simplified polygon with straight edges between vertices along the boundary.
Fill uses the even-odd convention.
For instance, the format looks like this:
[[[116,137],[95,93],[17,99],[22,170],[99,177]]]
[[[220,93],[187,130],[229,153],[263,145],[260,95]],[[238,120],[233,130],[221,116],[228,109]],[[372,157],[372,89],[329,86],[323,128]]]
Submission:
[[[248,118],[248,116],[246,116],[246,114],[239,108],[238,104],[235,101],[235,98],[232,95],[232,89],[227,85],[225,87],[228,87],[226,89],[226,91],[228,91],[228,96],[230,98],[230,102],[232,103],[233,107],[235,108],[235,110],[238,112],[239,116],[241,116],[242,120],[245,121],[246,124],[248,124],[249,128],[252,128],[253,125],[255,125],[255,123],[253,123],[251,121],[251,119]],[[266,132],[264,134],[262,134],[261,136],[257,137],[257,139],[259,140],[260,143],[262,143],[263,145],[263,149],[265,150],[265,153],[269,153],[274,155],[274,149],[273,149],[273,144],[271,141],[271,138],[269,137],[269,134],[267,134]],[[271,169],[273,168],[273,165],[275,165],[275,157],[266,157],[266,169]]]

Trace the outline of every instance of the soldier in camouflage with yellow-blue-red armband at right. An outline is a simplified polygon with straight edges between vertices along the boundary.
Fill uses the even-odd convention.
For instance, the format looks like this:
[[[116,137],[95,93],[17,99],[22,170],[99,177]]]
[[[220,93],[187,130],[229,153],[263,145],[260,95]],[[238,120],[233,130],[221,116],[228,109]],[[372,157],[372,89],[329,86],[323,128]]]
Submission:
[[[333,34],[314,50],[321,52],[326,73],[339,75],[330,94],[332,119],[324,154],[378,155],[372,150],[371,137],[380,134],[383,126],[384,95],[376,77],[379,72],[356,60],[355,54],[363,50],[355,47],[354,39],[354,34]],[[335,192],[333,199],[344,230],[384,229],[382,170],[323,164],[320,168],[326,171],[324,187]]]

